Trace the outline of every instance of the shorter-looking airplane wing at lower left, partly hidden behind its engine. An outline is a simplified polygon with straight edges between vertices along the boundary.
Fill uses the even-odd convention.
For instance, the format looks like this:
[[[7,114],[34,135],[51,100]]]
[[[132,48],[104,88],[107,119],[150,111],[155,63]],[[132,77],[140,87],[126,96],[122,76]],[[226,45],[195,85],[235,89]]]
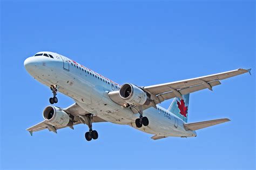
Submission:
[[[77,125],[77,124],[81,124],[81,123],[86,124],[86,125],[89,124],[88,119],[86,118],[85,115],[90,114],[90,113],[85,111],[84,109],[82,109],[77,103],[74,103],[74,104],[70,105],[68,108],[65,108],[63,110],[67,114],[70,114],[73,116],[73,125]],[[92,121],[93,123],[106,122],[104,119],[99,118],[97,116],[93,116],[92,120],[93,120]],[[26,130],[29,131],[32,136],[32,133],[36,132],[36,131],[48,129],[49,131],[57,133],[58,129],[67,128],[67,127],[73,129],[73,126],[58,127],[58,126],[52,126],[52,125],[48,124],[46,121],[43,121],[36,125],[31,126],[30,128],[28,128]]]

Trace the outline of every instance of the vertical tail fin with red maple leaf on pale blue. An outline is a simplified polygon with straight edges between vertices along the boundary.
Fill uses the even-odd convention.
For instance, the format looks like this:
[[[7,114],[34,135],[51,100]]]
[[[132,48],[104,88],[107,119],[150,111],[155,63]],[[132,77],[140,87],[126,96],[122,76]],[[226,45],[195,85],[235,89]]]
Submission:
[[[190,101],[190,94],[182,95],[182,98],[183,99],[175,97],[168,110],[187,123],[188,102]]]

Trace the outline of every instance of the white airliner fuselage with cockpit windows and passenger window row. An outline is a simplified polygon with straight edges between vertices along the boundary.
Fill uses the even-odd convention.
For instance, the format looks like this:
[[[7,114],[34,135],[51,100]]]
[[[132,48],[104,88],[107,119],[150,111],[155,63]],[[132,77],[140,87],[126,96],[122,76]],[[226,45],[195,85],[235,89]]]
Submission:
[[[157,109],[151,107],[143,111],[143,116],[146,116],[150,123],[148,126],[137,128],[134,122],[139,114],[133,114],[131,109],[114,103],[109,98],[109,91],[119,90],[119,84],[63,55],[45,53],[51,54],[53,58],[32,56],[24,62],[26,70],[48,87],[57,85],[60,93],[73,98],[85,111],[105,121],[130,125],[158,136],[196,136],[195,131],[185,130],[183,120],[159,105]]]

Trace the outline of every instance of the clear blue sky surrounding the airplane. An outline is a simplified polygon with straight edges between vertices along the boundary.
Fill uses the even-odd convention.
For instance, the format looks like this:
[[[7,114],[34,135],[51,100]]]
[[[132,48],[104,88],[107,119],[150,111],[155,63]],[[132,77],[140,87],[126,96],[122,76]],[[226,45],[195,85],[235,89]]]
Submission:
[[[138,86],[252,68],[213,91],[191,94],[188,122],[230,118],[196,138],[152,140],[130,126],[25,131],[52,95],[23,62],[52,51],[119,84]],[[253,1],[2,1],[1,169],[254,169]],[[72,104],[58,94],[58,106]],[[161,103],[165,108],[170,101]]]

